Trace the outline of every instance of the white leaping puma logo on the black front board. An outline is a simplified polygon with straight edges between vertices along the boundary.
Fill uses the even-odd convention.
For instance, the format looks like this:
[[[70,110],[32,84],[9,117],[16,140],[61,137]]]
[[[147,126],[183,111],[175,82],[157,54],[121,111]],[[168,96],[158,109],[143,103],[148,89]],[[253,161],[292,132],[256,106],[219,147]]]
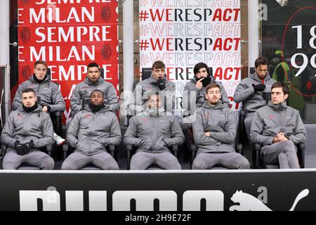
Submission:
[[[308,189],[304,189],[301,191],[296,199],[294,200],[294,203],[289,211],[294,211],[294,208],[296,207],[296,204],[302,199],[305,198],[308,193]],[[261,202],[261,200],[258,200],[258,198],[255,198],[253,195],[249,195],[248,193],[243,193],[242,191],[236,191],[232,195],[232,198],[230,198],[234,203],[239,203],[239,205],[232,205],[230,207],[230,211],[272,211],[269,207],[267,207],[265,204]]]

